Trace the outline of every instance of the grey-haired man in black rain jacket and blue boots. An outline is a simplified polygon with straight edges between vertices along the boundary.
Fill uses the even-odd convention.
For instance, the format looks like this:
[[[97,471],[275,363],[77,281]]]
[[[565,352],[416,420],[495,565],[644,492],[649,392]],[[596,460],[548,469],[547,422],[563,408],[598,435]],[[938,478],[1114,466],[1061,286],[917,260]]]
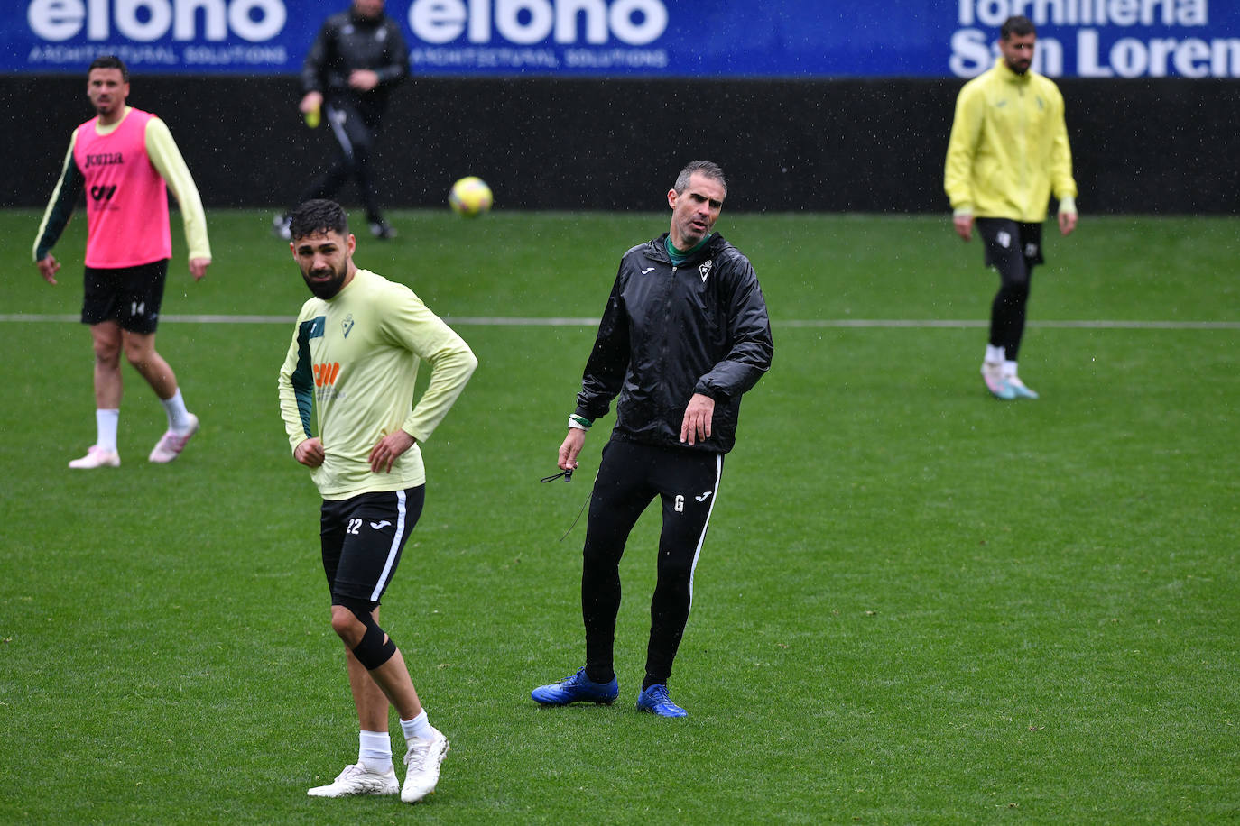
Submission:
[[[544,706],[611,703],[619,696],[611,658],[620,557],[629,531],[658,495],[658,581],[637,708],[662,717],[686,713],[668,697],[667,680],[688,620],[693,570],[719,493],[723,454],[735,442],[740,396],[766,372],[774,352],[754,267],[711,232],[727,187],[715,163],[686,166],[667,193],[671,230],[620,261],[559,447],[559,467],[572,471],[585,432],[619,394],[585,528],[585,666],[534,689],[531,696]]]

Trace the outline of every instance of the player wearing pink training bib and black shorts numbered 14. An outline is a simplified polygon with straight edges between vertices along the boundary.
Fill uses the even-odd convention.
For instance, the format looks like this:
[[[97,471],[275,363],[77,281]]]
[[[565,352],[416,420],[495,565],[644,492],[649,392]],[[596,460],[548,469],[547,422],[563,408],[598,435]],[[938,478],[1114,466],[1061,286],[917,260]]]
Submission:
[[[120,419],[120,353],[155,390],[167,414],[167,431],[149,459],[167,463],[180,456],[198,430],[186,410],[176,375],[155,350],[155,328],[164,300],[167,261],[172,256],[167,189],[172,189],[185,223],[190,274],[207,272],[211,246],[202,201],[176,142],[162,120],[125,105],[129,69],[120,58],[97,58],[87,74],[87,95],[98,115],[69,140],[61,177],[43,213],[35,241],[35,263],[56,284],[61,263],[52,246],[86,192],[86,296],[82,323],[94,346],[97,440],[71,468],[117,467]]]

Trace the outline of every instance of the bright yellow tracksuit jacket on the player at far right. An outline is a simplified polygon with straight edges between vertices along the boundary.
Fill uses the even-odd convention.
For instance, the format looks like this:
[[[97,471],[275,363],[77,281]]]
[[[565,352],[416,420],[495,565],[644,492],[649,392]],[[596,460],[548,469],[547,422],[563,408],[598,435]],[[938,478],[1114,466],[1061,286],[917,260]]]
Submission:
[[[1052,192],[1075,212],[1064,97],[1047,77],[1002,58],[963,85],[947,142],[944,189],[956,214],[1040,223]],[[1066,201],[1066,203],[1065,203]]]

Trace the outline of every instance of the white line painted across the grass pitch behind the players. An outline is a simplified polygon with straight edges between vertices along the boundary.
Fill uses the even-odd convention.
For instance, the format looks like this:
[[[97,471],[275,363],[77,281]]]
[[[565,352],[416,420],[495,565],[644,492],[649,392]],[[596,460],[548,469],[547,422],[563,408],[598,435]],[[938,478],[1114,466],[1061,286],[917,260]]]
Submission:
[[[76,315],[41,315],[41,313],[0,313],[0,322],[77,322],[81,316]],[[227,315],[167,315],[160,321],[171,323],[190,324],[291,324],[296,321],[294,316],[227,316]],[[572,318],[572,317],[501,317],[501,316],[459,316],[444,317],[450,324],[461,327],[595,327],[598,318]],[[985,320],[936,320],[936,318],[802,318],[790,321],[774,321],[773,327],[802,327],[802,328],[977,328],[988,327]],[[1059,329],[1240,329],[1240,321],[1030,321],[1029,327],[1047,327]]]

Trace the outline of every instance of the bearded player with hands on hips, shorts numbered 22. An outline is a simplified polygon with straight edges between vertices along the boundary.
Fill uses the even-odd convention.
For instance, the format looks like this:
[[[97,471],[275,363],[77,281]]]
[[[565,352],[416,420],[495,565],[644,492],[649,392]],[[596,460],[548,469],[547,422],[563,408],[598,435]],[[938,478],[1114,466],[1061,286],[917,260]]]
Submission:
[[[345,643],[361,724],[357,763],[312,798],[434,791],[448,739],[433,727],[396,643],[378,625],[379,599],[422,514],[427,441],[469,381],[469,346],[407,286],[358,269],[356,239],[332,201],[290,214],[290,248],[315,297],[301,307],[280,368],[280,414],[294,458],[322,495],[324,572],[331,627]],[[430,383],[413,404],[418,367]],[[311,430],[317,411],[319,435]],[[401,716],[409,767],[397,785],[388,707]]]

